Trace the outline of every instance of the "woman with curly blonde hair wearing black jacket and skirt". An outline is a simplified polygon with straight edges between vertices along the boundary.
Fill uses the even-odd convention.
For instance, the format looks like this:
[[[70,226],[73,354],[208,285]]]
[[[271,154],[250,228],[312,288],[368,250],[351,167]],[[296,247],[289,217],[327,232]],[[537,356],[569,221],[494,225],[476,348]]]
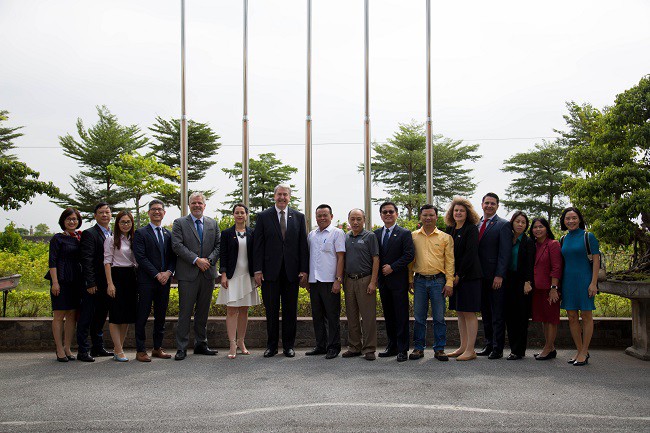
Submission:
[[[481,263],[478,258],[479,216],[466,198],[454,197],[445,215],[446,232],[454,239],[454,294],[449,309],[458,313],[460,348],[449,353],[457,361],[476,359],[476,313],[481,311]]]

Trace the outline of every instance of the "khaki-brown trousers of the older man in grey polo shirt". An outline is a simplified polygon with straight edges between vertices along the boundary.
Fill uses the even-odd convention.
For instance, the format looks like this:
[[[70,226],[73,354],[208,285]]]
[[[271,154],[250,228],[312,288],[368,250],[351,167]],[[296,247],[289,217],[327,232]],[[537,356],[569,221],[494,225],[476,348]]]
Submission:
[[[369,284],[370,275],[357,280],[345,277],[343,284],[351,352],[366,354],[377,350],[377,295],[375,292],[368,294]]]

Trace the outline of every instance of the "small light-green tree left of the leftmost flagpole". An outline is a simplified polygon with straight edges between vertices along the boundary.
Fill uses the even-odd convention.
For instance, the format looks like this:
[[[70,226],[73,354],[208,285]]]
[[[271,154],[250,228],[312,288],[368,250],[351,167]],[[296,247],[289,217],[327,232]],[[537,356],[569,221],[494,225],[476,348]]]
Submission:
[[[153,156],[143,156],[137,152],[120,155],[119,164],[106,167],[115,185],[122,188],[135,207],[135,225],[140,227],[140,201],[146,195],[170,195],[178,187],[165,179],[178,179],[178,169],[173,169],[156,161]]]

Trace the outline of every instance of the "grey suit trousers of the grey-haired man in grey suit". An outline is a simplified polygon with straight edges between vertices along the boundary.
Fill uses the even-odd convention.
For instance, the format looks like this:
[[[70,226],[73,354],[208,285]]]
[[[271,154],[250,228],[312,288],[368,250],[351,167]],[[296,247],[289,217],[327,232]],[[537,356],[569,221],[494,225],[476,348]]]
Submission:
[[[208,343],[208,314],[214,279],[199,277],[194,281],[178,281],[178,324],[176,326],[176,347],[187,350],[190,340],[190,319],[194,313],[194,347]]]

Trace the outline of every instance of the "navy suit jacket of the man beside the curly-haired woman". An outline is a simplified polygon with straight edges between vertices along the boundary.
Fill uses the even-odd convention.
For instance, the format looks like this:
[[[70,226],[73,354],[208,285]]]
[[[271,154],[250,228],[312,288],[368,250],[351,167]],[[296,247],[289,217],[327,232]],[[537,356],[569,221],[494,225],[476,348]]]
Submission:
[[[480,230],[482,221],[477,227]],[[481,260],[483,278],[505,277],[512,255],[512,228],[510,222],[494,215],[485,227],[478,242],[478,257]]]

